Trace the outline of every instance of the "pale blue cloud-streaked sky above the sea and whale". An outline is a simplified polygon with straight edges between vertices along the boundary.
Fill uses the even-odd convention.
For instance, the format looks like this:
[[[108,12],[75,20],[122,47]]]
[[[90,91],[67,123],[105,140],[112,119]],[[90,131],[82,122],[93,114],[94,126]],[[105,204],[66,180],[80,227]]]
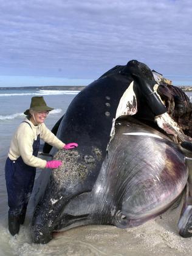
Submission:
[[[191,0],[0,0],[0,86],[87,85],[136,59],[192,85]]]

